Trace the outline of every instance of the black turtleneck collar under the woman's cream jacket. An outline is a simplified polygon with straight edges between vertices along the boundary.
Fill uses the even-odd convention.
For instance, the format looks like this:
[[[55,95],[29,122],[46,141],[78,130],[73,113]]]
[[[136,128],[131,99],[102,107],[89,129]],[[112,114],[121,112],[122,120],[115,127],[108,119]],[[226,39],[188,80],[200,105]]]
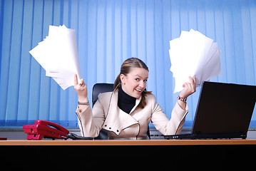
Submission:
[[[122,87],[119,88],[118,92],[118,107],[123,110],[125,113],[130,113],[130,110],[133,109],[136,102],[136,98],[126,94]]]

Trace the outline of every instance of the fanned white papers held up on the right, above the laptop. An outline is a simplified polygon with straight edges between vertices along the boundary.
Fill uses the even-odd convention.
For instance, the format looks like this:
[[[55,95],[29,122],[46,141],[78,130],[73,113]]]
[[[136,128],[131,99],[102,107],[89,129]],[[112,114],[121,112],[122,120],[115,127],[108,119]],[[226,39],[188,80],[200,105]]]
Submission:
[[[183,90],[183,83],[196,77],[197,87],[221,73],[220,49],[217,43],[198,31],[182,31],[170,41],[170,71],[175,78],[174,93]]]

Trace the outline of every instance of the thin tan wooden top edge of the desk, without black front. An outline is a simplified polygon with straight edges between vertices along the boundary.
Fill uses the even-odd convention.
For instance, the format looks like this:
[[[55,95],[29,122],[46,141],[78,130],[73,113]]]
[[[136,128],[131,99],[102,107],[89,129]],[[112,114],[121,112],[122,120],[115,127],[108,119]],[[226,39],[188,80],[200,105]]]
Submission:
[[[256,140],[2,140],[0,145],[256,145]]]

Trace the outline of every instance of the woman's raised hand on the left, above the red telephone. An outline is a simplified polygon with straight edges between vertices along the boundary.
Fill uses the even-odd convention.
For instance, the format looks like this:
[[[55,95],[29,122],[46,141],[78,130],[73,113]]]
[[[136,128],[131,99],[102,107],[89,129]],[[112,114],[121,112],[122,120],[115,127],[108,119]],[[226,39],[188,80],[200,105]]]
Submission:
[[[83,78],[78,83],[77,75],[75,74],[73,85],[78,95],[78,101],[82,103],[88,102],[88,90],[86,83],[83,82]]]

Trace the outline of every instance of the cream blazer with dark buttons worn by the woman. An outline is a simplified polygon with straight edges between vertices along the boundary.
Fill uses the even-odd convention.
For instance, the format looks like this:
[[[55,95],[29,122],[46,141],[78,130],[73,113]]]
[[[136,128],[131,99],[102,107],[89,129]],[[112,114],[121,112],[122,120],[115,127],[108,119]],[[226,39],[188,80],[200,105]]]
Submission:
[[[160,105],[155,101],[155,95],[146,95],[145,108],[137,108],[140,98],[136,100],[135,106],[130,113],[125,113],[118,108],[118,89],[113,92],[101,93],[93,106],[80,112],[77,108],[78,125],[81,135],[85,137],[97,137],[103,128],[108,130],[108,137],[117,140],[143,140],[148,139],[148,124],[151,123],[163,135],[179,134],[188,113],[188,105],[185,110],[175,104],[170,120],[167,118]]]

